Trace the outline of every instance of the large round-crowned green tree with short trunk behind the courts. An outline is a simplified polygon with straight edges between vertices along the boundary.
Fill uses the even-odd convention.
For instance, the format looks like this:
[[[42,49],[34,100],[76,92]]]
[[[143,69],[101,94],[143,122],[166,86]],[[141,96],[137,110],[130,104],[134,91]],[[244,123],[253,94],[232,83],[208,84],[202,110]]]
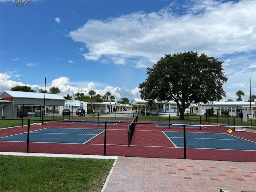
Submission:
[[[195,104],[210,103],[225,97],[222,86],[228,78],[222,72],[222,61],[198,52],[167,54],[148,67],[148,78],[141,84],[140,97],[158,102],[176,102],[179,112]]]

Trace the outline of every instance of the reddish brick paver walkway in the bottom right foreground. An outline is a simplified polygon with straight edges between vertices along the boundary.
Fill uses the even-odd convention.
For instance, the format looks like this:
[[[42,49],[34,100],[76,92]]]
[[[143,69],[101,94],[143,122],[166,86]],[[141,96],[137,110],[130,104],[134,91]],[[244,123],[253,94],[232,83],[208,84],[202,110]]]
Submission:
[[[255,162],[119,157],[104,192],[256,192]]]

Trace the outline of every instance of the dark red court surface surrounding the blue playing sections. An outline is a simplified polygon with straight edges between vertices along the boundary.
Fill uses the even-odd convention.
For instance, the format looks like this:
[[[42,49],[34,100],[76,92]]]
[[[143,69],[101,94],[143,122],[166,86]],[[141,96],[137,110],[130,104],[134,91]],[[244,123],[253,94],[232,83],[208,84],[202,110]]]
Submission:
[[[90,120],[87,120],[90,121]],[[111,122],[109,120],[109,122]],[[92,122],[91,122],[92,123]],[[84,154],[106,156],[128,156],[128,157],[152,157],[152,158],[178,158],[199,160],[223,160],[256,162],[256,149],[254,150],[224,150],[210,148],[184,148],[176,147],[164,131],[183,132],[183,127],[156,126],[153,122],[138,122],[128,147],[128,125],[129,121],[108,124],[106,126],[106,145],[104,145],[105,131],[94,138],[85,141],[84,144],[58,143],[58,142],[30,142],[30,153],[56,153],[56,154]],[[105,129],[104,123],[77,124],[75,122],[58,121],[30,125],[30,132],[45,128],[75,128],[75,129]],[[189,128],[186,132],[204,133],[227,133],[232,127],[211,126],[207,128]],[[5,128],[0,130],[0,137],[16,135],[27,132],[27,126]],[[254,132],[236,132],[231,135],[256,142]],[[52,135],[51,135],[52,136]],[[53,135],[54,136],[54,135]],[[0,151],[4,152],[26,152],[27,142],[0,141]]]

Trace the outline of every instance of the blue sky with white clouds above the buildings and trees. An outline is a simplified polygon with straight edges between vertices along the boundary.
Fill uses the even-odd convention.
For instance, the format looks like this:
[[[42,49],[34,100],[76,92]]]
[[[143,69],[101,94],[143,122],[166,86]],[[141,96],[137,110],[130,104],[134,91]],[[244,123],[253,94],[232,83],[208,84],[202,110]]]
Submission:
[[[60,96],[89,90],[140,98],[165,54],[223,61],[226,98],[256,94],[256,0],[0,0],[0,92],[46,83]],[[251,82],[251,84],[250,84]],[[83,90],[83,91],[81,91]]]

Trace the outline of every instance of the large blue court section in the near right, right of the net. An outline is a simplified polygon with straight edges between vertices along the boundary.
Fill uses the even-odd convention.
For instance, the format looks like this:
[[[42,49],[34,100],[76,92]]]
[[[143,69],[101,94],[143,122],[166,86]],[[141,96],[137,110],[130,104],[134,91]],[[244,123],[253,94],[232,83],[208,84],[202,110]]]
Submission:
[[[164,134],[176,147],[184,147],[183,132],[168,132]],[[186,132],[187,148],[251,150],[256,151],[256,142],[232,136],[226,133]]]

